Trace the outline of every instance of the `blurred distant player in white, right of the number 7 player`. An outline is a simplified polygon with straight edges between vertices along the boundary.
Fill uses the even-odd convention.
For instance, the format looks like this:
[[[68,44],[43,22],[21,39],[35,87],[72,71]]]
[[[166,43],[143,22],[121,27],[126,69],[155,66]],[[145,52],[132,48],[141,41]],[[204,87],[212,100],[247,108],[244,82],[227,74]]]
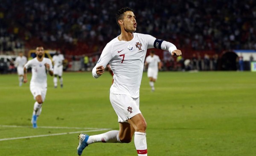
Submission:
[[[158,69],[161,69],[161,61],[159,56],[154,54],[154,51],[150,51],[150,55],[146,57],[145,65],[148,67],[148,78],[151,91],[154,91],[154,82],[157,80]]]

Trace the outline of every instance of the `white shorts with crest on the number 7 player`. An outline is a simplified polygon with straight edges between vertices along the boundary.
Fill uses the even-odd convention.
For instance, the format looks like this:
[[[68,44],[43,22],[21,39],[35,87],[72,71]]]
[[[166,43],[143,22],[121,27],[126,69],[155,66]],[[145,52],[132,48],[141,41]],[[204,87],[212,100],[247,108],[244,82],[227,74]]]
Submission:
[[[128,95],[110,94],[111,105],[116,111],[118,122],[127,122],[140,112],[140,97],[132,98]]]

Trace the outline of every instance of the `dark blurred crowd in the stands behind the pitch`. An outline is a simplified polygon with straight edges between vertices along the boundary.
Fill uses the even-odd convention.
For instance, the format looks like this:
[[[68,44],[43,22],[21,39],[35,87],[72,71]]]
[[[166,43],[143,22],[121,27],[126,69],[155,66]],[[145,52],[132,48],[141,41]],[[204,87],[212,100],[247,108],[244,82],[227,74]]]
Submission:
[[[99,53],[119,35],[115,13],[124,6],[134,9],[136,32],[186,51],[256,49],[255,0],[8,0],[0,3],[0,51],[38,41],[67,55]]]

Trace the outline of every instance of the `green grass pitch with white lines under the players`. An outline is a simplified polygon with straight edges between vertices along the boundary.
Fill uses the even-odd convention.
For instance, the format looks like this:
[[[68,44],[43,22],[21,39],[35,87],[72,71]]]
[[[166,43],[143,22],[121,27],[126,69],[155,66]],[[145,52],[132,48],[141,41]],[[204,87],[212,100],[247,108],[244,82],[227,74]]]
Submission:
[[[0,156],[76,156],[81,131],[118,130],[109,101],[110,74],[63,77],[62,89],[53,88],[48,77],[38,128],[33,129],[29,83],[19,87],[16,74],[0,75]],[[144,73],[140,110],[148,124],[148,156],[256,156],[256,73],[160,72],[155,88],[152,93]],[[137,152],[134,142],[95,143],[83,156]]]

